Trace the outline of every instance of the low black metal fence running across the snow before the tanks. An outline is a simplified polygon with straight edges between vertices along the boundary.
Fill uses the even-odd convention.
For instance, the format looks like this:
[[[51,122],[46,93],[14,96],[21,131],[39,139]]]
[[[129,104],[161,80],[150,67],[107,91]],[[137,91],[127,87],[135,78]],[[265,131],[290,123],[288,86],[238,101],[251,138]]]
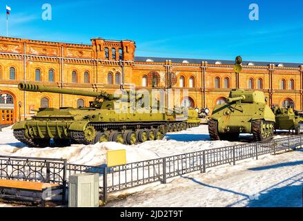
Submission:
[[[193,153],[184,153],[155,160],[133,162],[121,166],[101,167],[66,164],[66,160],[41,160],[26,157],[1,157],[0,178],[26,178],[26,180],[47,180],[64,182],[76,173],[99,173],[100,197],[106,202],[108,193],[130,189],[153,182],[166,183],[171,177],[201,171],[223,164],[233,164],[239,160],[257,158],[268,153],[291,151],[302,148],[302,135],[283,137],[265,143],[248,143],[222,148],[212,148]],[[9,160],[9,163],[8,163]],[[63,161],[63,162],[62,162]],[[10,170],[8,166],[10,165]],[[23,175],[24,171],[31,171]],[[10,173],[8,173],[10,171]],[[66,171],[66,172],[65,172]],[[67,179],[68,180],[68,179]]]

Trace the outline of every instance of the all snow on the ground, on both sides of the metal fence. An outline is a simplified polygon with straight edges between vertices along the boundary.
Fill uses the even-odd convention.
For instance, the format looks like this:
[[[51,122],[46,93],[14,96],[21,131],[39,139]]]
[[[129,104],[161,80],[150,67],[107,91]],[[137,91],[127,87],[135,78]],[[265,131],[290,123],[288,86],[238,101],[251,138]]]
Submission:
[[[137,162],[207,148],[232,146],[251,140],[250,135],[241,135],[240,142],[211,142],[205,125],[179,133],[169,133],[164,140],[133,146],[106,142],[64,148],[28,148],[14,139],[10,128],[3,128],[0,137],[0,155],[64,158],[69,163],[90,166],[106,163],[108,150],[125,148],[127,161]],[[275,136],[279,137],[281,135]],[[125,193],[144,193],[135,193],[126,200],[110,202],[108,206],[299,206],[297,194],[299,186],[302,187],[303,152],[266,155],[260,159],[262,160],[246,160],[246,163],[240,162],[237,166],[208,169],[208,173],[202,175],[192,173],[176,177],[168,180],[166,185],[153,183],[139,186]],[[293,184],[286,187],[291,182]],[[248,200],[249,195],[260,191],[260,200]],[[0,204],[1,206],[10,205]]]

